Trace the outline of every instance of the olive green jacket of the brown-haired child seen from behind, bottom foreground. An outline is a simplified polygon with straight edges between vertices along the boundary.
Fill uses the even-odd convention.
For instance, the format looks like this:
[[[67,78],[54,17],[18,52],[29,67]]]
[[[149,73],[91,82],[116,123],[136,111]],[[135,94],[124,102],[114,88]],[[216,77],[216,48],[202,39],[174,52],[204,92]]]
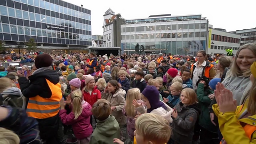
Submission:
[[[120,138],[120,127],[114,116],[109,116],[104,121],[97,119],[96,128],[92,133],[90,144],[113,143],[114,138]]]

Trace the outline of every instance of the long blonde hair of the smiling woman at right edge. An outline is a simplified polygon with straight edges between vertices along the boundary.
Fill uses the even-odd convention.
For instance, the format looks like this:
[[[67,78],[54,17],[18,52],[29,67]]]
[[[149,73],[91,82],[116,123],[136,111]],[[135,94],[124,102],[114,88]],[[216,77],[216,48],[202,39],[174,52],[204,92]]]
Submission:
[[[249,49],[249,50],[252,51],[252,53],[253,53],[254,55],[256,55],[256,43],[245,44],[245,45],[243,45],[242,47],[240,47],[240,49],[237,51],[235,60],[234,60],[234,62],[232,63],[232,65],[231,65],[231,67],[230,67],[230,70],[231,70],[231,73],[230,73],[230,74],[231,74],[232,76],[242,76],[242,75],[243,75],[243,76],[245,76],[245,77],[249,77],[249,76],[251,75],[251,70],[250,70],[250,68],[247,69],[247,70],[242,71],[242,70],[238,67],[238,65],[237,65],[237,63],[236,63],[237,57],[238,57],[238,55],[239,55],[239,52],[241,52],[241,50],[244,50],[244,49]]]

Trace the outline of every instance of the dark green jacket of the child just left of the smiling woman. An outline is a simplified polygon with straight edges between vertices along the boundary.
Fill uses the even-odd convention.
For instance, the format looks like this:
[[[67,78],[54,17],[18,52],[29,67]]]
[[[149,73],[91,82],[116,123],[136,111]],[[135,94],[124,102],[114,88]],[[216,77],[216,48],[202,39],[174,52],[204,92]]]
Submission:
[[[211,100],[208,95],[212,93],[214,93],[214,91],[212,91],[209,87],[204,88],[204,84],[198,84],[196,94],[199,104],[198,107],[202,110],[202,113],[199,116],[199,125],[210,132],[217,133],[217,126],[212,124],[208,108],[211,104]]]

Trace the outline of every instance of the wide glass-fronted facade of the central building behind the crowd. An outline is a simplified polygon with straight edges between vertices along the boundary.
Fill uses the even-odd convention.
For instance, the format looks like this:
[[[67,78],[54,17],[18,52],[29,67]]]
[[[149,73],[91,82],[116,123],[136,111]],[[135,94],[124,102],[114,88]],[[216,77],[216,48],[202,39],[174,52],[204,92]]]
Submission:
[[[187,20],[121,25],[121,48],[135,53],[135,45],[145,52],[195,54],[206,49],[207,20]]]

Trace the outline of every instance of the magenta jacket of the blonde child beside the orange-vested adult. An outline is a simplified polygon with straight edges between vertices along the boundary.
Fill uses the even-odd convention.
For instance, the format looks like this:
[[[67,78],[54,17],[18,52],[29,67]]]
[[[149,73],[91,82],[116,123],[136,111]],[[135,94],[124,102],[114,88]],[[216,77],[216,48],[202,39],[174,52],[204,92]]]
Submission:
[[[67,110],[60,110],[60,118],[62,123],[66,125],[72,125],[73,132],[78,140],[85,139],[92,134],[92,126],[90,124],[92,107],[88,102],[84,100],[82,101],[82,107],[82,114],[77,119],[74,119],[75,115],[73,111],[67,114]]]

